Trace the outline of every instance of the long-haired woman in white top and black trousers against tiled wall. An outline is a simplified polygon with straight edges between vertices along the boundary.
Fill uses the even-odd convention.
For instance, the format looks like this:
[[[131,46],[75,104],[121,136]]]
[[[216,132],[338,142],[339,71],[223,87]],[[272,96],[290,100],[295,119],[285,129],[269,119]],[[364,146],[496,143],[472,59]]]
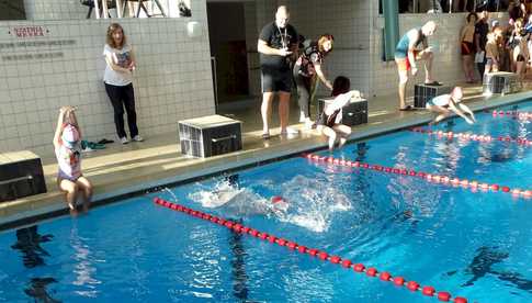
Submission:
[[[124,130],[125,108],[131,138],[140,142],[143,137],[138,135],[135,93],[132,83],[132,74],[135,70],[135,55],[132,47],[127,44],[124,30],[118,23],[113,23],[107,27],[107,37],[103,48],[103,55],[105,56],[106,63],[103,81],[105,83],[105,91],[113,104],[114,124],[118,138],[122,144],[129,142]]]

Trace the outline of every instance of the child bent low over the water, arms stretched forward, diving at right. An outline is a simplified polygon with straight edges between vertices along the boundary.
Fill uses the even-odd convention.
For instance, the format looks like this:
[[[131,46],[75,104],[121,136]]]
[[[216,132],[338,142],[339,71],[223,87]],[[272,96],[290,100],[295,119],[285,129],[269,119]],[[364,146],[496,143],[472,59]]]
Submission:
[[[427,110],[437,114],[434,120],[429,125],[435,124],[443,119],[450,116],[452,113],[460,115],[467,123],[473,124],[476,122],[475,114],[465,104],[462,104],[462,98],[464,93],[461,87],[455,87],[451,93],[442,94],[432,98],[427,102]],[[468,116],[467,116],[468,115]]]

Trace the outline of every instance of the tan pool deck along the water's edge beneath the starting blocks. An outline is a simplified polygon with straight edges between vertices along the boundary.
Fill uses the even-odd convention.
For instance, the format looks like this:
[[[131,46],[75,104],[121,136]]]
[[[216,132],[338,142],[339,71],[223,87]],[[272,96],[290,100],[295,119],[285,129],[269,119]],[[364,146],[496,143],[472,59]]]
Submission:
[[[510,104],[532,98],[532,91],[486,98],[482,87],[464,86],[464,102],[474,111]],[[230,169],[258,166],[261,162],[298,154],[309,149],[326,148],[327,141],[316,131],[304,130],[298,124],[298,111],[292,100],[291,124],[299,134],[282,137],[279,128],[272,137],[261,138],[259,105],[233,110],[230,116],[244,122],[242,150],[211,158],[190,158],[181,155],[177,133],[147,137],[143,143],[109,144],[105,149],[83,153],[83,175],[94,186],[95,204],[109,202],[117,197],[146,192],[149,189],[179,183],[202,176],[219,173]],[[399,112],[396,97],[373,98],[369,102],[369,123],[354,126],[351,141],[364,139],[378,134],[423,124],[432,119],[427,111]],[[224,110],[220,110],[224,114]],[[276,109],[273,110],[273,124]],[[50,147],[52,149],[52,147]],[[0,231],[36,220],[66,214],[64,195],[57,190],[57,164],[54,155],[39,155],[46,179],[47,193],[0,203]]]

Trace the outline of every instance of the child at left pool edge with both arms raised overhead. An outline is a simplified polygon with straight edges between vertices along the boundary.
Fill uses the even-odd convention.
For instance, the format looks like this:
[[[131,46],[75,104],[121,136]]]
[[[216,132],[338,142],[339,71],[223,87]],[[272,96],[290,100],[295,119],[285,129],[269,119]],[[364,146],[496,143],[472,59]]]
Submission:
[[[54,148],[59,166],[57,184],[65,192],[65,199],[72,215],[77,214],[76,201],[80,193],[83,197],[86,212],[89,210],[92,197],[92,184],[81,173],[81,132],[73,112],[72,106],[63,106],[59,110],[54,135]]]

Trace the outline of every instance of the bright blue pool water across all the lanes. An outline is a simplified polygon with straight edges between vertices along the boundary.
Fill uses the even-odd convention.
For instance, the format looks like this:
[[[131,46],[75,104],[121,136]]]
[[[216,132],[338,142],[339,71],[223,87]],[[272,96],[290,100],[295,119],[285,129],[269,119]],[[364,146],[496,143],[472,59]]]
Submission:
[[[477,117],[433,128],[532,139],[530,120]],[[401,131],[318,154],[532,189],[531,150]],[[286,211],[272,206],[274,195]],[[469,302],[532,302],[532,199],[301,157],[2,233],[0,302],[437,301],[155,205],[155,197]]]

